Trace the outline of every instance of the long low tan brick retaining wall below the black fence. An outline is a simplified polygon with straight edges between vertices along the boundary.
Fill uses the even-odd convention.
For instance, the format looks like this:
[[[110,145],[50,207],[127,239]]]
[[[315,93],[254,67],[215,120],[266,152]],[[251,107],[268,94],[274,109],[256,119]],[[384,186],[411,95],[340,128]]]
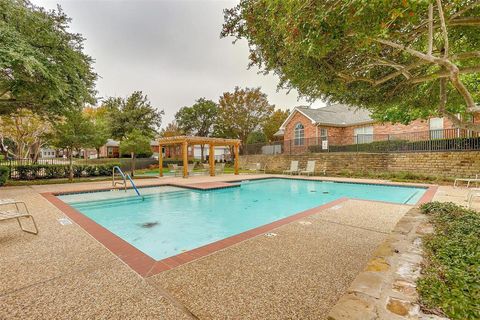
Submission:
[[[480,174],[480,151],[415,152],[415,153],[313,153],[304,155],[245,155],[240,165],[267,163],[267,170],[282,171],[291,160],[299,160],[304,168],[308,160],[316,160],[316,171],[327,173],[342,170],[412,172],[431,176],[474,177]]]

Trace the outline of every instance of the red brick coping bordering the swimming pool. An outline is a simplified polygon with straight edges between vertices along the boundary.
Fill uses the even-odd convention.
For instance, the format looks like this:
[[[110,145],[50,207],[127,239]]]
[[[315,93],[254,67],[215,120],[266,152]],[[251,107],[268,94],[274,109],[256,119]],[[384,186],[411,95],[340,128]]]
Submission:
[[[234,187],[234,185],[230,183],[224,183],[224,182],[193,183],[189,185],[176,185],[176,184],[169,183],[169,184],[159,184],[156,186],[178,186],[178,187],[192,188],[197,190],[212,190],[212,189],[219,189],[219,188]],[[437,186],[428,187],[427,191],[425,191],[424,195],[418,201],[417,204],[430,201],[435,195],[437,188],[438,188]],[[95,189],[94,191],[104,191],[104,190],[111,190],[111,188]],[[81,192],[82,191],[78,191],[78,193],[81,193]],[[73,192],[69,191],[65,193],[75,193],[75,191]],[[93,238],[95,238],[98,242],[103,244],[108,250],[110,250],[113,254],[115,254],[118,258],[120,258],[124,263],[130,266],[130,268],[132,268],[135,272],[137,272],[142,277],[153,276],[162,271],[170,270],[182,264],[197,260],[199,258],[212,254],[216,251],[225,249],[236,243],[267,233],[282,225],[288,224],[290,222],[293,222],[301,218],[308,217],[312,214],[318,213],[321,210],[334,207],[348,200],[348,198],[340,198],[332,202],[326,203],[324,205],[321,205],[312,209],[308,209],[308,210],[293,214],[291,216],[288,216],[286,218],[271,222],[269,224],[262,225],[260,227],[236,234],[234,236],[212,242],[202,247],[198,247],[198,248],[180,253],[178,255],[157,261],[151,258],[150,256],[146,255],[142,251],[138,250],[137,248],[135,248],[133,245],[129,244],[122,238],[118,237],[114,233],[110,232],[108,229],[97,224],[95,221],[83,215],[81,212],[69,206],[62,200],[60,200],[56,196],[59,194],[62,194],[62,193],[53,193],[53,192],[41,193],[41,195],[45,199],[50,201],[54,206],[56,206],[63,213],[65,213],[65,215],[67,215],[70,219],[72,219],[75,223],[77,223],[80,227],[82,227]]]

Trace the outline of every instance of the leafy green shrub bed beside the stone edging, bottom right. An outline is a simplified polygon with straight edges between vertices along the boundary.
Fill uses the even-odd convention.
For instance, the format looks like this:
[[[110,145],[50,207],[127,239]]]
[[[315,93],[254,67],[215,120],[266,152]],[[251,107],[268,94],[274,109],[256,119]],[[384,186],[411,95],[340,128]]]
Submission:
[[[418,291],[426,309],[452,319],[479,319],[480,215],[454,203],[422,205],[434,234],[425,237]]]

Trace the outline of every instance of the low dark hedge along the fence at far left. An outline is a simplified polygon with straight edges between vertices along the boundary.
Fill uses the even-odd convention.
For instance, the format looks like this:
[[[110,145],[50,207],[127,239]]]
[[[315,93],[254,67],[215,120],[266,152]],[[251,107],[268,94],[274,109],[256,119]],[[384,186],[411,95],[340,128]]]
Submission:
[[[118,163],[74,165],[73,175],[77,178],[110,176],[112,174],[113,167],[118,165]],[[0,175],[1,172],[2,171],[0,169]],[[9,176],[9,173],[10,172],[7,168],[7,177]],[[12,167],[10,178],[15,180],[60,179],[68,178],[69,173],[70,169],[68,165],[34,164]]]

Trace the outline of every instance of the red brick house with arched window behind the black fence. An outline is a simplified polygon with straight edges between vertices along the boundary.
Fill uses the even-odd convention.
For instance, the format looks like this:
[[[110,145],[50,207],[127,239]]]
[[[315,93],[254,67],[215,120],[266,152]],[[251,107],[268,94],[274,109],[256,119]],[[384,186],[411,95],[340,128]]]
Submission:
[[[327,150],[333,145],[453,138],[465,136],[465,132],[455,129],[446,118],[415,120],[409,125],[379,123],[365,109],[331,104],[318,109],[294,108],[275,135],[283,136],[285,151],[302,152],[308,146]]]

